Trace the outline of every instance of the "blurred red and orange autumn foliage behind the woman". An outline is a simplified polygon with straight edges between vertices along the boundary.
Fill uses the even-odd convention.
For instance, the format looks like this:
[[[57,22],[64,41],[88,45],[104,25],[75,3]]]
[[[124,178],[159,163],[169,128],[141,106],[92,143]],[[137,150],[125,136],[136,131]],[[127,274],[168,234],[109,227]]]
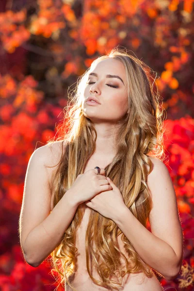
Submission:
[[[159,279],[164,290],[194,290],[194,1],[1,0],[2,291],[52,291],[57,286],[49,262],[33,268],[20,249],[27,164],[35,148],[57,136],[68,87],[73,89],[94,59],[118,45],[157,72],[166,110],[165,162],[185,241],[178,277]]]

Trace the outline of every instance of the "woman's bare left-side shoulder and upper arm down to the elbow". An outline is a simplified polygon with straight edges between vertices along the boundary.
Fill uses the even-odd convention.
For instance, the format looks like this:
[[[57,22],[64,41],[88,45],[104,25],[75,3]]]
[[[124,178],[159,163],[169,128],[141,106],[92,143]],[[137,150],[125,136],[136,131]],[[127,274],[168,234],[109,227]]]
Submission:
[[[24,182],[24,192],[19,221],[21,246],[30,231],[43,222],[50,214],[51,193],[49,176],[60,161],[62,142],[41,146],[32,153]]]

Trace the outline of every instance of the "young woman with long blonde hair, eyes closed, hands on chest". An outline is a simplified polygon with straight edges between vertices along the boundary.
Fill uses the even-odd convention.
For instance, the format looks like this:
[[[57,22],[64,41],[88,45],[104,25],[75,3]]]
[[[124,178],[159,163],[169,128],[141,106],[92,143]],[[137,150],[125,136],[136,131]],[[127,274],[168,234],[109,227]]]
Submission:
[[[51,254],[65,291],[161,291],[156,275],[180,271],[182,229],[151,78],[127,52],[98,57],[67,106],[64,136],[30,158],[22,251],[34,267]]]

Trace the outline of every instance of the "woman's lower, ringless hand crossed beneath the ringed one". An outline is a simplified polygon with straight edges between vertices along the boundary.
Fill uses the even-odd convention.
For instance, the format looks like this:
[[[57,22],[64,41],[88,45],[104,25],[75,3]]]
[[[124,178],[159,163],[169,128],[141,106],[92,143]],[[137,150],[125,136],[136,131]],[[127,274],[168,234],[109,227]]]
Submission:
[[[104,217],[110,218],[114,221],[122,209],[127,206],[125,205],[122,194],[113,181],[108,177],[107,180],[113,190],[103,191],[94,196],[92,199],[85,201],[85,204],[93,210],[99,212]]]

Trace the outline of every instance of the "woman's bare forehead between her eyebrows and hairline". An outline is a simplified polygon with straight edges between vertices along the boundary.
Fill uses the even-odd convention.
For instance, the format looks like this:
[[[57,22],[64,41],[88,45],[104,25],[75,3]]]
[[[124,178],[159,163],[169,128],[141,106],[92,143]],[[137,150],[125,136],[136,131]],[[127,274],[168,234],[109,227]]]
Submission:
[[[99,75],[118,75],[124,82],[126,81],[126,71],[124,65],[119,60],[113,58],[107,58],[97,64],[92,65],[88,74],[91,72],[95,72]]]

